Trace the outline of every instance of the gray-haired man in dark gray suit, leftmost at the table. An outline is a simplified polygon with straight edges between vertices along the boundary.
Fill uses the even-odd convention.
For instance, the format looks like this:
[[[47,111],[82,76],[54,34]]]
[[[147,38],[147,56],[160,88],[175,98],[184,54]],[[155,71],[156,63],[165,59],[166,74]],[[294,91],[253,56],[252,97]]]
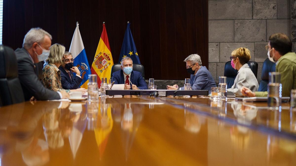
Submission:
[[[41,28],[32,28],[24,38],[23,48],[17,48],[17,67],[25,100],[35,97],[37,100],[54,100],[68,98],[66,92],[54,92],[43,86],[38,79],[38,72],[34,63],[44,61],[49,55],[52,36]]]

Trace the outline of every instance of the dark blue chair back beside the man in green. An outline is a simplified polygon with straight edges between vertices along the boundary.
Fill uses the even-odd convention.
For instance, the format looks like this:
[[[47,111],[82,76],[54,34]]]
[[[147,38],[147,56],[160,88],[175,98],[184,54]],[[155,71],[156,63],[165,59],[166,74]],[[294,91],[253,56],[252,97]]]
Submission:
[[[276,64],[272,61],[269,61],[268,58],[265,59],[262,66],[262,73],[261,73],[261,82],[258,88],[258,91],[264,92],[267,91],[267,84],[268,84],[268,73],[276,71]]]

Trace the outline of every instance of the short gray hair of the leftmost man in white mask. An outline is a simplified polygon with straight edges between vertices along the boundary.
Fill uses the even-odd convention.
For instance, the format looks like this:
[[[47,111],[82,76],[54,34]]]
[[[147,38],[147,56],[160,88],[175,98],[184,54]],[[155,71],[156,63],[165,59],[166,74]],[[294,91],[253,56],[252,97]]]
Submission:
[[[52,40],[52,35],[41,28],[31,28],[29,32],[25,35],[24,41],[22,43],[22,47],[29,49],[32,47],[33,43],[42,43],[44,41],[44,37],[47,35],[50,40]]]

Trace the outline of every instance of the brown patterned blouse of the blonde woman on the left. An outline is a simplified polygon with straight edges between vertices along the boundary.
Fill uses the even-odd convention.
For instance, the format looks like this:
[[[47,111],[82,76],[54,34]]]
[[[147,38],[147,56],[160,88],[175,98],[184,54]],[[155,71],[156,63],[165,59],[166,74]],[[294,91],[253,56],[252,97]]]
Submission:
[[[61,83],[61,71],[55,64],[47,64],[43,68],[42,83],[48,89],[55,92],[65,91],[70,92],[70,89],[63,89]]]

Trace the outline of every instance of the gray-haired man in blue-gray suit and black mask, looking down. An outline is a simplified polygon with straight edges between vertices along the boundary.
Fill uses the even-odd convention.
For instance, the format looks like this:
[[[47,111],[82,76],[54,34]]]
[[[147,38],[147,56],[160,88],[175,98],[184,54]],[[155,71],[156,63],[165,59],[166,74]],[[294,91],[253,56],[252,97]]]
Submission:
[[[202,66],[202,61],[198,54],[191,54],[185,58],[186,70],[190,74],[190,84],[192,90],[211,90],[211,87],[216,87],[215,80],[207,67]],[[183,90],[184,87],[179,88],[178,85],[167,85],[169,90]]]

